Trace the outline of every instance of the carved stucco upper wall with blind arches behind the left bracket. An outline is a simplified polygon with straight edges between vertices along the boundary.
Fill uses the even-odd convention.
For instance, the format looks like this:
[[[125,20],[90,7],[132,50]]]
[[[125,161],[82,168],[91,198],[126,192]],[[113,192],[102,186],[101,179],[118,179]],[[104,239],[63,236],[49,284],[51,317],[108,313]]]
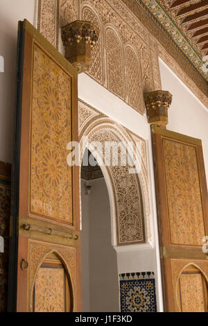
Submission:
[[[54,46],[58,24],[61,27],[83,19],[99,28],[89,76],[144,114],[143,93],[161,89],[157,42],[125,5],[117,0],[42,0],[40,3],[38,28]]]

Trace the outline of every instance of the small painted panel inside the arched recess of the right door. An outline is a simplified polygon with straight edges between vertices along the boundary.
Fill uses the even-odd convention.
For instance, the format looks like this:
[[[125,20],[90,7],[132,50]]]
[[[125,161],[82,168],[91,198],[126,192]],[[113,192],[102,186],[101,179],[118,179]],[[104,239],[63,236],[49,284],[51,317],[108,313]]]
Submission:
[[[182,312],[205,312],[205,300],[201,273],[180,275]]]

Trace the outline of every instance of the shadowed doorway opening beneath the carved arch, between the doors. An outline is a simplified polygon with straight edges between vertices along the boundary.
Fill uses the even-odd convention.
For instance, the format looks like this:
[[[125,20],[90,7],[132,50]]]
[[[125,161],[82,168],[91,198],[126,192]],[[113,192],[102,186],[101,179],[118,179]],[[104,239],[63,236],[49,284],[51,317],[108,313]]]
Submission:
[[[82,310],[119,311],[119,276],[107,185],[101,167],[88,149],[83,162],[88,164],[82,164],[80,187]]]

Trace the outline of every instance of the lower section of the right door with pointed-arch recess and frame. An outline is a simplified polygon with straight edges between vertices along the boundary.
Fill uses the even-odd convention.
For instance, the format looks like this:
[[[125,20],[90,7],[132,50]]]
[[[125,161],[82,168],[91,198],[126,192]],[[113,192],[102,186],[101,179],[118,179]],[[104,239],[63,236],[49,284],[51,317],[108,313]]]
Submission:
[[[166,291],[168,311],[207,312],[208,261],[166,259]],[[169,280],[169,281],[168,281]]]

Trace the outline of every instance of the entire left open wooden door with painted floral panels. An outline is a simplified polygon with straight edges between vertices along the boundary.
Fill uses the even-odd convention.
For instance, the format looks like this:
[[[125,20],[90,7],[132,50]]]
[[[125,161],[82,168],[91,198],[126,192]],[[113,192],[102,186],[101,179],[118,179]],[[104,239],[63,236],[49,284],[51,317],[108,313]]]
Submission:
[[[19,22],[9,311],[80,311],[77,73]],[[69,154],[69,153],[68,153]]]

